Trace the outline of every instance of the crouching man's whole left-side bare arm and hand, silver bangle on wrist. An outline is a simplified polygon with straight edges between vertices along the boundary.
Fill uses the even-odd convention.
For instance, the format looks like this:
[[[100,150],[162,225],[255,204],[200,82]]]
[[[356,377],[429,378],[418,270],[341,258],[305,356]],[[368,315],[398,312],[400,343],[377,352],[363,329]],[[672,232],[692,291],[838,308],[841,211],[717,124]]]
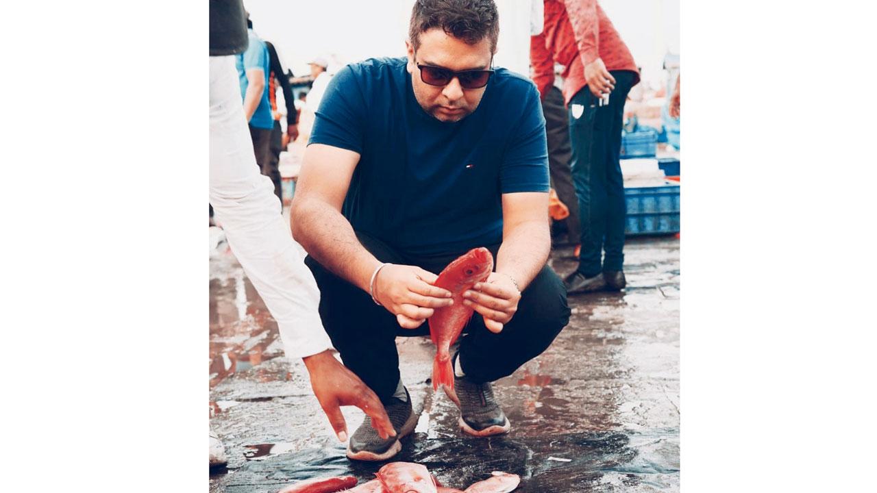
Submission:
[[[369,293],[396,315],[399,325],[415,329],[434,308],[453,304],[451,292],[431,284],[438,279],[416,266],[381,266],[360,244],[341,205],[360,154],[339,147],[311,144],[304,152],[290,219],[292,235],[305,251],[335,275]]]

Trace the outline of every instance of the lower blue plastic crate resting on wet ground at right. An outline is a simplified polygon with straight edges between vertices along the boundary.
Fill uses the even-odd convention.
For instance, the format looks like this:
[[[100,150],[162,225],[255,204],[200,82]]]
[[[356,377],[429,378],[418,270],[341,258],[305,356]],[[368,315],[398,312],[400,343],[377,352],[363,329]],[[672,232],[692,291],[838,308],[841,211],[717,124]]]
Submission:
[[[679,232],[679,195],[679,185],[672,182],[624,189],[625,233],[635,236]]]

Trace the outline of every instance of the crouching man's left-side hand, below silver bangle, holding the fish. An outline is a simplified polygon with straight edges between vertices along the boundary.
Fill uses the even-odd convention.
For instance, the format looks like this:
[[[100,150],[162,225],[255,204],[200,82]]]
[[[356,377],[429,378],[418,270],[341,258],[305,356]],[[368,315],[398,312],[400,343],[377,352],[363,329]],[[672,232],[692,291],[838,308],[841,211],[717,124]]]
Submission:
[[[416,266],[388,264],[374,279],[374,299],[396,315],[403,328],[416,329],[433,309],[453,304],[451,291],[432,285],[437,279]]]

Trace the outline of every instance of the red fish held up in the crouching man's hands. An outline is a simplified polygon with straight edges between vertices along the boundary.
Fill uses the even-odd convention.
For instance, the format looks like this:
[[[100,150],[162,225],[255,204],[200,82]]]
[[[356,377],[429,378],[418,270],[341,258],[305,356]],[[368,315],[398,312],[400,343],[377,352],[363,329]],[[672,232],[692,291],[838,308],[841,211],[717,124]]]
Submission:
[[[430,317],[430,336],[436,345],[432,362],[432,389],[439,385],[453,391],[451,345],[460,337],[463,327],[472,318],[473,309],[463,304],[463,293],[476,282],[487,281],[493,271],[493,254],[484,247],[473,248],[441,271],[435,285],[453,293],[453,304],[435,309]],[[453,394],[453,392],[452,392]],[[449,394],[451,395],[451,394]]]

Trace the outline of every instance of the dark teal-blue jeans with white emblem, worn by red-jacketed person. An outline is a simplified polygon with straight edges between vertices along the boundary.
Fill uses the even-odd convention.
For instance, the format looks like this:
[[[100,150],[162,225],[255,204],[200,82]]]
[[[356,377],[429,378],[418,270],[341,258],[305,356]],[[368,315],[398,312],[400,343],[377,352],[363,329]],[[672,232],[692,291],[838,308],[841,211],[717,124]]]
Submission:
[[[608,106],[597,106],[588,86],[569,102],[569,139],[573,145],[573,182],[579,196],[581,254],[579,272],[588,277],[624,265],[624,179],[618,161],[624,101],[636,74],[613,70],[615,89]],[[601,254],[606,256],[602,260]]]

